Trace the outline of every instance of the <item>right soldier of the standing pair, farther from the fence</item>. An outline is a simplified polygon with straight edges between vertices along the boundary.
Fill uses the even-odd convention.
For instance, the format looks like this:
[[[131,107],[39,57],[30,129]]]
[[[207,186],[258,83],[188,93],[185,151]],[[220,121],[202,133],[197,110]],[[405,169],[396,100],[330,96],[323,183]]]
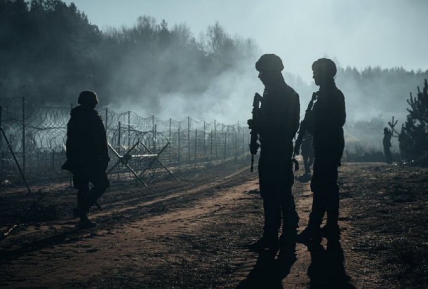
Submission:
[[[321,240],[321,223],[327,212],[327,224],[323,233],[327,237],[339,238],[339,186],[338,167],[344,147],[343,125],[345,123],[345,102],[342,91],[335,83],[335,63],[326,58],[312,64],[315,84],[320,86],[310,115],[308,131],[313,135],[314,167],[311,191],[314,193],[312,212],[303,238]]]

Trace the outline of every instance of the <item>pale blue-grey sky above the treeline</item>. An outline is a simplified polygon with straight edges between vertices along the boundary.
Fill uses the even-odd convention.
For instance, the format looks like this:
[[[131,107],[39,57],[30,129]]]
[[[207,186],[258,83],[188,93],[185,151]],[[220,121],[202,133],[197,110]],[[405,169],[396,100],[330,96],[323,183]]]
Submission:
[[[216,21],[231,36],[254,39],[285,69],[311,81],[311,64],[333,58],[363,69],[428,70],[428,0],[66,0],[101,30],[138,16],[185,23],[198,39]]]

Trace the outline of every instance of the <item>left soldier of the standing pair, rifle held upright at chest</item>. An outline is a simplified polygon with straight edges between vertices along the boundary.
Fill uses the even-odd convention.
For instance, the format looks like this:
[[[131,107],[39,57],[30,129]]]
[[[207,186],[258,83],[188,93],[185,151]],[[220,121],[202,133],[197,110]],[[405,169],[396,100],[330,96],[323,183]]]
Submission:
[[[257,132],[260,141],[258,176],[263,199],[263,236],[261,249],[277,249],[278,230],[281,243],[295,240],[299,217],[296,213],[293,185],[292,140],[299,127],[299,95],[284,81],[281,59],[264,54],[256,63],[258,78],[264,84]]]

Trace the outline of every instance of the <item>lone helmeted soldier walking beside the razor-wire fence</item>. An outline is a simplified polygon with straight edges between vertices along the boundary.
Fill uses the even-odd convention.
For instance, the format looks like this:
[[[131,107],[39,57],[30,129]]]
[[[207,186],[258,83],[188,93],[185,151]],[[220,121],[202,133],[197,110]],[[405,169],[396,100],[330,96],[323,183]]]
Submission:
[[[73,210],[80,217],[78,226],[89,228],[96,226],[88,218],[89,209],[110,186],[105,172],[110,157],[104,124],[95,110],[98,97],[86,90],[79,95],[78,103],[67,124],[67,161],[62,169],[73,173],[73,185],[78,189],[77,208]],[[89,182],[93,185],[91,189]]]

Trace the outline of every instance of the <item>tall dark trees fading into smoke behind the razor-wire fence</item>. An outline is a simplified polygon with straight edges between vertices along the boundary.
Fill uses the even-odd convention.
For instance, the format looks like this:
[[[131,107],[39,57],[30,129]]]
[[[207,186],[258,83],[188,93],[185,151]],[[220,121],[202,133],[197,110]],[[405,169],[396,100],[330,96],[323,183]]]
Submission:
[[[164,94],[205,91],[211,77],[238,69],[257,50],[218,23],[201,40],[184,24],[170,28],[149,16],[100,31],[61,0],[0,0],[0,43],[0,97],[52,105],[91,88],[104,103],[144,98],[156,107]]]

